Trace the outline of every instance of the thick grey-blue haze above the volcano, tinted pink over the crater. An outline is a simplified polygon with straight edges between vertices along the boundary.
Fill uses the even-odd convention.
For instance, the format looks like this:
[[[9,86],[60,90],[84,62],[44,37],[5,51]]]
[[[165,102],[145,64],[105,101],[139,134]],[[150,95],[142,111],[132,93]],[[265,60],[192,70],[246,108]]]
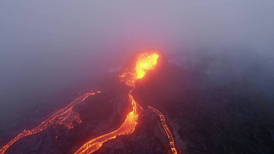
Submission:
[[[235,65],[244,69],[255,61],[265,69],[261,79],[273,79],[273,15],[271,0],[3,0],[0,112],[12,116],[41,109],[40,104],[70,101],[82,88],[96,87],[104,73],[121,67],[132,52],[151,47],[167,55],[231,58],[226,62],[232,66],[217,60],[219,65],[208,68],[211,72]],[[182,64],[182,59],[173,60],[178,61]]]

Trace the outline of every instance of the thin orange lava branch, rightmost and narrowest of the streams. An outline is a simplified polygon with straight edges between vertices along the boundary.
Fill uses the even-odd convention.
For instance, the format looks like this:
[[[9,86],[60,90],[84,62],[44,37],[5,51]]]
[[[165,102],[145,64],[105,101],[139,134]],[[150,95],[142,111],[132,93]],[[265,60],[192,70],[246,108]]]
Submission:
[[[172,133],[170,132],[170,130],[168,129],[166,123],[165,123],[165,118],[164,118],[164,115],[163,113],[161,113],[159,110],[157,110],[156,108],[153,108],[151,106],[149,106],[149,108],[154,112],[156,113],[157,115],[159,115],[159,118],[160,118],[160,121],[161,121],[161,124],[163,126],[163,129],[166,133],[166,136],[169,140],[169,146],[170,146],[170,150],[172,151],[173,154],[177,154],[177,149],[175,147],[175,144],[174,144],[174,138],[172,136]]]

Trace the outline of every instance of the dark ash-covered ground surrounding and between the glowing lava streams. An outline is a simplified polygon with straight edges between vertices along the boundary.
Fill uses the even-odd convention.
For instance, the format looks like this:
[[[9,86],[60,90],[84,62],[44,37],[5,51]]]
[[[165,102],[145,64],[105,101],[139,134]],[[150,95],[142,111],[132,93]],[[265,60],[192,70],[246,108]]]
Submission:
[[[91,138],[119,128],[131,106],[128,87],[116,77],[110,74],[101,93],[75,107],[82,124],[71,130],[50,127],[20,139],[6,153],[74,153]],[[217,85],[198,67],[185,69],[163,59],[136,83],[132,95],[144,108],[135,131],[105,142],[94,153],[170,153],[159,118],[148,105],[165,115],[179,153],[274,153],[273,101],[251,80]],[[4,134],[3,143],[12,136]]]

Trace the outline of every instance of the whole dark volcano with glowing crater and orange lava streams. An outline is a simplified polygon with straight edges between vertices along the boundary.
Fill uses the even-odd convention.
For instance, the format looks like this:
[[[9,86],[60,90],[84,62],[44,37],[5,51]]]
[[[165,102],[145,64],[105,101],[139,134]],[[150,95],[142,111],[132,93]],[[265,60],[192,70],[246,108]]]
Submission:
[[[159,50],[135,53],[102,87],[24,130],[0,153],[274,151],[265,119],[234,89],[201,89],[193,74],[168,64]]]

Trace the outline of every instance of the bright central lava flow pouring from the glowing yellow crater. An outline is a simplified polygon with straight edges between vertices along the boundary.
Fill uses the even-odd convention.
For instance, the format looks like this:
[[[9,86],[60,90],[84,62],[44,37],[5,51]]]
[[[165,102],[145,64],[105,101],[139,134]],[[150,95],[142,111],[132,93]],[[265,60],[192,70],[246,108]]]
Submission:
[[[126,72],[119,75],[120,80],[125,82],[127,86],[132,87],[133,90],[135,88],[135,82],[139,79],[142,79],[146,75],[147,71],[155,68],[158,57],[159,55],[157,53],[141,53],[138,56],[135,67],[131,71],[128,71],[128,68],[126,68]],[[102,146],[102,143],[110,139],[116,138],[119,135],[128,135],[133,133],[135,126],[138,124],[139,114],[137,111],[138,104],[135,102],[131,95],[132,90],[130,90],[128,93],[128,97],[132,104],[132,111],[127,114],[126,119],[120,128],[108,134],[91,139],[82,145],[74,154],[92,153],[99,149]]]

